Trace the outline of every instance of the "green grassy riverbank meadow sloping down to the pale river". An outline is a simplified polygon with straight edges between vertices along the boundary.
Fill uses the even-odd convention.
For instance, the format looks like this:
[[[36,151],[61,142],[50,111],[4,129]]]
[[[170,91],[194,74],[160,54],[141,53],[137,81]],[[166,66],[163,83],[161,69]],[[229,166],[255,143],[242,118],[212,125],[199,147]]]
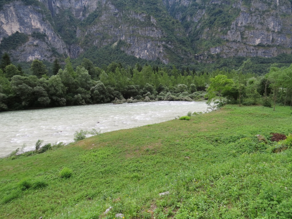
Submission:
[[[227,105],[1,159],[0,218],[292,218],[292,150],[269,140],[291,112]]]

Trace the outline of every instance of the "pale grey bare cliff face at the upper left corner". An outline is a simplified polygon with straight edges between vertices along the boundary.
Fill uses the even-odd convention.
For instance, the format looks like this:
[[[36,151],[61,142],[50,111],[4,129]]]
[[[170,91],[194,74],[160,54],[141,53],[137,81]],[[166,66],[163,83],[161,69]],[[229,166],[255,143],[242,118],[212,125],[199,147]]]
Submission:
[[[27,35],[33,32],[46,34],[45,41],[29,37],[27,43],[16,51],[10,51],[13,58],[18,61],[34,59],[52,61],[54,51],[59,54],[69,54],[65,43],[55,33],[52,25],[44,19],[44,15],[37,12],[39,9],[36,6],[24,6],[21,2],[15,1],[5,5],[0,12],[0,42],[3,37],[17,31]]]

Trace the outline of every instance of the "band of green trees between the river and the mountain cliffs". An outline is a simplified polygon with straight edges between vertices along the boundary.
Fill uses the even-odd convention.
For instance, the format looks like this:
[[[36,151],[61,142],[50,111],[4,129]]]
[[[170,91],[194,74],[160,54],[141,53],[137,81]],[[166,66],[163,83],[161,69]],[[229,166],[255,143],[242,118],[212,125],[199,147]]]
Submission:
[[[4,53],[0,63],[0,110],[204,99],[220,105],[291,107],[292,66],[272,64],[262,75],[251,72],[251,66],[248,59],[237,69],[212,72],[147,63],[124,67],[112,62],[100,68],[84,58],[74,69],[68,57],[64,67],[55,59],[48,71],[47,66],[36,59],[24,71],[20,65],[13,65],[9,55]]]

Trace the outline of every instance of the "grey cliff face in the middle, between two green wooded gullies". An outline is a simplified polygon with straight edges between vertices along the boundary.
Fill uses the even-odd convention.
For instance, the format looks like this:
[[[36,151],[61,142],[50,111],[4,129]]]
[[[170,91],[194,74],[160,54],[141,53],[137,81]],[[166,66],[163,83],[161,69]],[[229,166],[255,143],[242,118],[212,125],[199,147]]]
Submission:
[[[133,11],[124,13],[109,1],[102,6],[99,22],[89,27],[83,37],[94,39],[93,44],[98,47],[115,46],[118,41],[123,41],[125,46],[121,49],[128,55],[147,60],[160,58],[168,63],[163,49],[166,42],[161,40],[164,34],[156,25],[155,18]]]

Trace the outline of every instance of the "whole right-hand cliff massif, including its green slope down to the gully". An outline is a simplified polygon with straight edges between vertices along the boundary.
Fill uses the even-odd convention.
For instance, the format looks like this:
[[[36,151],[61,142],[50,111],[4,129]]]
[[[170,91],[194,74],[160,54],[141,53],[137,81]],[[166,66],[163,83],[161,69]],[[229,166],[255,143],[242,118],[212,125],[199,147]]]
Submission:
[[[188,22],[186,32],[193,34],[194,48],[201,57],[206,58],[210,53],[221,57],[272,57],[291,53],[292,15],[288,0],[197,0],[195,3],[164,0],[164,4],[170,6],[173,17]],[[223,14],[221,21],[237,16],[223,26],[218,25],[216,18]],[[221,41],[213,43],[216,39]],[[209,48],[200,45],[204,42],[210,44]]]

